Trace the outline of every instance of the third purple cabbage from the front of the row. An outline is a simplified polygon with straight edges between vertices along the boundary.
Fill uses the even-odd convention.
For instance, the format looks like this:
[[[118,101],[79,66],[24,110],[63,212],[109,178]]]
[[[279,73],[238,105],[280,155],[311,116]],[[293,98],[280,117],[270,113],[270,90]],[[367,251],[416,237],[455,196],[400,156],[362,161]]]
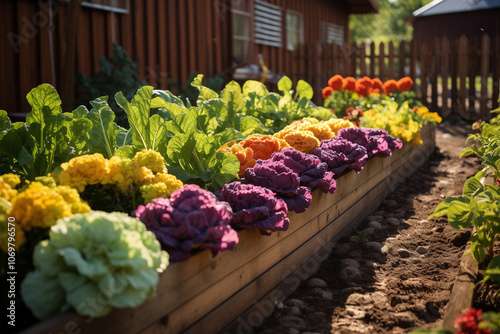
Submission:
[[[256,164],[245,171],[245,183],[265,187],[285,201],[288,210],[304,212],[311,205],[311,191],[300,186],[297,173],[281,162]]]

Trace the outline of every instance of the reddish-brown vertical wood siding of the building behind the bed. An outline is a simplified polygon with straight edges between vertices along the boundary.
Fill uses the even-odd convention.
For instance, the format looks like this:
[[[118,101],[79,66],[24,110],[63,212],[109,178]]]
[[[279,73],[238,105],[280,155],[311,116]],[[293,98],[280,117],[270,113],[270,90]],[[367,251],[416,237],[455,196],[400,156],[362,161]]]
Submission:
[[[336,0],[268,0],[304,15],[304,40],[320,39],[320,22],[343,26],[348,36],[348,7]],[[30,110],[26,94],[41,83],[61,91],[68,6],[47,1],[0,0],[0,108],[11,116]],[[52,19],[51,19],[52,17]],[[230,0],[130,0],[128,14],[82,7],[78,20],[75,74],[99,71],[99,58],[112,56],[113,42],[123,46],[137,63],[139,77],[156,88],[169,89],[167,79],[185,84],[190,73],[230,79],[233,70]],[[285,32],[283,30],[283,39]],[[51,47],[52,45],[52,47]],[[249,63],[257,55],[275,73],[292,71],[293,53],[285,47],[254,45]],[[52,53],[52,56],[51,56]],[[68,102],[68,101],[64,101]],[[71,108],[71,105],[65,105]]]

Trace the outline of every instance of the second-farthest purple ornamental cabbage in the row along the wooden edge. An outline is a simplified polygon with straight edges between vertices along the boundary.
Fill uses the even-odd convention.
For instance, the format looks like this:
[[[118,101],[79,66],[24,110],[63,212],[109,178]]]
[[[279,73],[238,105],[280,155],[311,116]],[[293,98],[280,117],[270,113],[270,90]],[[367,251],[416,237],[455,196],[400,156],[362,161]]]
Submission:
[[[359,173],[368,159],[363,146],[338,136],[323,140],[319,147],[312,151],[312,154],[326,162],[328,170],[334,174],[340,174],[347,168]]]

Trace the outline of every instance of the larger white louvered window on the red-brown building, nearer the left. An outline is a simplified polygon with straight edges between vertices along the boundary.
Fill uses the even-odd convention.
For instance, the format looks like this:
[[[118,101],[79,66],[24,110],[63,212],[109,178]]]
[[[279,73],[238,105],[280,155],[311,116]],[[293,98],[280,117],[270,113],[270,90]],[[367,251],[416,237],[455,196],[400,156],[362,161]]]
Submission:
[[[255,0],[255,43],[281,47],[282,10],[262,0]]]

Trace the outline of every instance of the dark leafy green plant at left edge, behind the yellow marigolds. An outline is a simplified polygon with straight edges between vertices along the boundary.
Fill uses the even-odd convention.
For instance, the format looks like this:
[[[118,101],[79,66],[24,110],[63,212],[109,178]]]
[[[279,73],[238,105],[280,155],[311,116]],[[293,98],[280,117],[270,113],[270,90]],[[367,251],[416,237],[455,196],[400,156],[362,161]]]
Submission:
[[[25,123],[12,124],[7,113],[0,112],[0,153],[2,172],[8,169],[33,180],[85,154],[92,121],[79,112],[63,113],[59,95],[49,84],[33,88],[27,100],[31,112]]]

